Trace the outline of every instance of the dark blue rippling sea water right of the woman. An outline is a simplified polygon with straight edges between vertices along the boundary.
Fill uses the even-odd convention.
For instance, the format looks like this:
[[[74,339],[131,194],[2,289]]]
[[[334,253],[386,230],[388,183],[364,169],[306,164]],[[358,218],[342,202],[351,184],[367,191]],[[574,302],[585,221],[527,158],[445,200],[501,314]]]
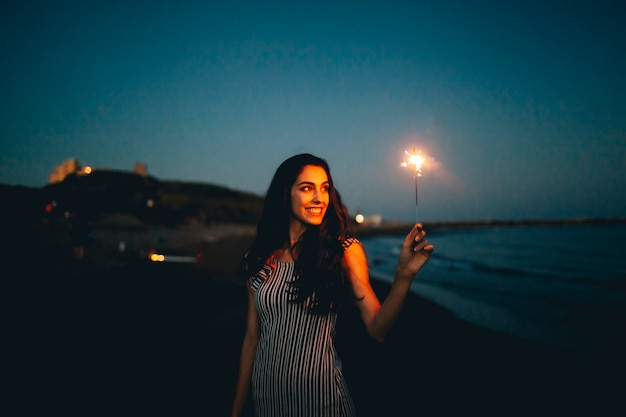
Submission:
[[[436,228],[411,291],[463,320],[554,348],[626,347],[625,236],[621,223]],[[403,239],[361,239],[373,278],[392,281]]]

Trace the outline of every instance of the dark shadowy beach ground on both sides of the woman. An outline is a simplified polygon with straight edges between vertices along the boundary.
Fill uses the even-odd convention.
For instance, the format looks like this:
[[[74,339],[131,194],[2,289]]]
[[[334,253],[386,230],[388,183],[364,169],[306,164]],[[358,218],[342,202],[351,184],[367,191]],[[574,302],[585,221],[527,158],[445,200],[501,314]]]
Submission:
[[[198,254],[194,263],[120,253],[110,236],[139,232],[114,229],[108,240],[94,232],[100,240],[82,261],[62,231],[36,228],[14,241],[8,398],[20,415],[229,415],[247,302],[236,271],[248,229],[183,239],[177,249]],[[388,284],[372,283],[384,299]],[[536,345],[415,294],[384,343],[350,308],[337,342],[360,416],[624,411],[623,351]]]

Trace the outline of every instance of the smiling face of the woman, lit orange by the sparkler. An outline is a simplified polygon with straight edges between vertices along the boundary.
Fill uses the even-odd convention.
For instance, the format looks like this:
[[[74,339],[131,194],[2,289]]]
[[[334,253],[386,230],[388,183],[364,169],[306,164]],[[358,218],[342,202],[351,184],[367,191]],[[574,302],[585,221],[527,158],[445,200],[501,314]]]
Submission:
[[[324,168],[306,165],[291,186],[291,215],[303,224],[319,226],[328,208],[328,189]]]

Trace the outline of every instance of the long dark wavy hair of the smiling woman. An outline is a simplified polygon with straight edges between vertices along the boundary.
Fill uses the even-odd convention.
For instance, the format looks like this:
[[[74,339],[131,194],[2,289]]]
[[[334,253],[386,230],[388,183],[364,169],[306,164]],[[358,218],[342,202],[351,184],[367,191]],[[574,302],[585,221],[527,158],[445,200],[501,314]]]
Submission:
[[[342,267],[343,244],[352,233],[348,210],[335,188],[326,160],[309,153],[286,159],[274,174],[265,195],[257,233],[242,260],[242,273],[258,273],[266,260],[289,241],[291,186],[305,166],[322,167],[329,183],[329,204],[319,226],[308,226],[292,248],[296,278],[290,282],[290,300],[313,313],[336,311],[349,293]]]

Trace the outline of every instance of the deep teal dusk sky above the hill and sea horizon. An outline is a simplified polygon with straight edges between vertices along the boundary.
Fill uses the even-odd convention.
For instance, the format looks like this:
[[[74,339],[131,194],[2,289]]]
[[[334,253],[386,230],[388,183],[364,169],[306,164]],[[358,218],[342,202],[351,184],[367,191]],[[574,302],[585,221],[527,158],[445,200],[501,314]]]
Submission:
[[[626,216],[626,2],[9,3],[2,184],[77,158],[263,195],[310,152],[413,221],[415,147],[423,221]]]

